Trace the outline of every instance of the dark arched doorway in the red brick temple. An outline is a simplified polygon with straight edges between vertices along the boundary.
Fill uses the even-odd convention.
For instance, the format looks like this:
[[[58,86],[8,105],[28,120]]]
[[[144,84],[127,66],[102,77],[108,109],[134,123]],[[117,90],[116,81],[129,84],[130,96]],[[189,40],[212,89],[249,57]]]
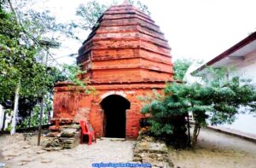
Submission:
[[[103,130],[105,137],[125,137],[126,109],[131,103],[122,96],[112,95],[101,102],[104,111]]]

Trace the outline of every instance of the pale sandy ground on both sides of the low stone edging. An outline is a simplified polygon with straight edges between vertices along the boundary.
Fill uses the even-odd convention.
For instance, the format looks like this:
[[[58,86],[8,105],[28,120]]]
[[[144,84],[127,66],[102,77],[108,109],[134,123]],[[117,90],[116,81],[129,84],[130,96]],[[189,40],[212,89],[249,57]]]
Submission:
[[[36,136],[29,141],[21,134],[0,136],[0,163],[6,164],[4,168],[90,168],[96,162],[131,162],[135,144],[107,139],[92,146],[45,152],[36,142]],[[170,148],[169,154],[175,168],[256,168],[256,143],[213,130],[201,130],[195,151]]]

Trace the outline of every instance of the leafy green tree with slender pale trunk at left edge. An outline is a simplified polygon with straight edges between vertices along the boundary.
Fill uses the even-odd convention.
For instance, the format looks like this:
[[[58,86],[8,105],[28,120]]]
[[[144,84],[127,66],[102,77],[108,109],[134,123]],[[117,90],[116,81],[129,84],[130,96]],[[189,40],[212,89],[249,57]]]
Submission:
[[[49,83],[45,66],[37,61],[38,47],[27,43],[25,28],[8,1],[11,13],[1,5],[1,101],[14,99],[14,114],[11,133],[15,133],[19,96],[39,96]],[[15,97],[13,97],[15,95]]]

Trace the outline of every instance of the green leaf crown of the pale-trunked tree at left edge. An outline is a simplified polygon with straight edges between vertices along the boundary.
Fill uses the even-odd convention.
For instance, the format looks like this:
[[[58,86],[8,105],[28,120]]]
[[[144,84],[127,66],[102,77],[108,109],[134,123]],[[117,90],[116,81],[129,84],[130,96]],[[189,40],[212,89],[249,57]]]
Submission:
[[[16,22],[13,14],[0,9],[1,27],[0,39],[0,103],[14,95],[15,87],[19,81],[22,83],[22,94],[34,90],[31,78],[37,76],[35,72],[42,72],[44,67],[35,62],[36,49],[33,46],[20,44],[22,28]],[[41,79],[42,80],[42,79]],[[30,86],[26,86],[30,84]],[[28,91],[29,90],[29,91]]]

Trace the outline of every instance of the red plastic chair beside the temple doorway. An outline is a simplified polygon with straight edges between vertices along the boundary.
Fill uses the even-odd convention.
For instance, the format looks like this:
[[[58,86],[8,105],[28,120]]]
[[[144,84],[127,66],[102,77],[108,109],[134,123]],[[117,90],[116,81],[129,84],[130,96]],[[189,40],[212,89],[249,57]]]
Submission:
[[[92,130],[92,128],[90,129],[84,120],[80,121],[80,127],[81,127],[81,143],[84,143],[84,135],[89,137],[88,145],[91,145],[92,143],[92,136],[94,136],[94,139],[96,142],[96,132]]]

